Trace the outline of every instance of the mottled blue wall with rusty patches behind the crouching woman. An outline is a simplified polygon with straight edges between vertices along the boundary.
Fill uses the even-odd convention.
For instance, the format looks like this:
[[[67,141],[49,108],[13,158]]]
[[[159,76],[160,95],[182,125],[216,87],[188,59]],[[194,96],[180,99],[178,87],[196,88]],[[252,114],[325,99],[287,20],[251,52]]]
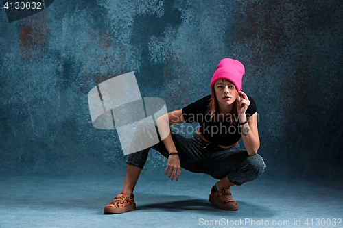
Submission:
[[[259,110],[264,175],[342,177],[342,7],[339,0],[56,0],[12,23],[2,8],[0,173],[121,172],[117,132],[93,127],[89,90],[134,71],[142,97],[176,110],[209,94],[217,64],[235,58]],[[143,172],[163,172],[166,162],[151,151]]]

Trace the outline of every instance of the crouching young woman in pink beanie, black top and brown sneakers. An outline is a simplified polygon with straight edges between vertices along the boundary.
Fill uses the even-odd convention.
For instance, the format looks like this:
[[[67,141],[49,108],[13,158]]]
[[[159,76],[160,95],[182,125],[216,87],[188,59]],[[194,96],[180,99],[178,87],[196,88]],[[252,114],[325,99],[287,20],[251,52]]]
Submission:
[[[171,180],[176,177],[178,181],[181,168],[219,179],[211,189],[209,201],[222,210],[238,210],[230,187],[257,179],[266,168],[257,154],[257,107],[254,99],[241,91],[244,73],[241,62],[225,58],[211,79],[211,95],[161,116],[156,125],[142,122],[137,126],[138,140],[143,142],[158,132],[163,141],[128,155],[123,190],[106,205],[106,214],[136,209],[133,190],[150,148],[168,158],[165,175]],[[170,125],[182,122],[198,122],[200,127],[191,138],[170,131]],[[240,138],[246,149],[240,149]]]

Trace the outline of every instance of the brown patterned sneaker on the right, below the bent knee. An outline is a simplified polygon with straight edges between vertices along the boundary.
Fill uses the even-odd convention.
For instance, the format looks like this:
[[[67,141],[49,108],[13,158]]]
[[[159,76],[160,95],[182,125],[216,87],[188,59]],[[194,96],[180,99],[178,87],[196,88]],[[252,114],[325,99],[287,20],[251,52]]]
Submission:
[[[209,201],[214,205],[217,205],[222,210],[235,211],[238,210],[238,204],[233,200],[230,188],[222,188],[220,191],[217,187],[213,186]]]

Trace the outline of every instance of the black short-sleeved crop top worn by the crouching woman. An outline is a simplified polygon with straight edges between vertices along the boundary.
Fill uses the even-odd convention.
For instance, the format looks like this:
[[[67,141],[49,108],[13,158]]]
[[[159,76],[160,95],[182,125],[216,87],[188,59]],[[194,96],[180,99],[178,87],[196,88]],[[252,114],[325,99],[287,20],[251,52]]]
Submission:
[[[211,114],[205,114],[207,106],[210,103],[211,95],[203,97],[198,101],[182,108],[182,116],[186,123],[198,122],[200,123],[200,132],[204,138],[213,143],[223,146],[235,144],[241,138],[241,130],[239,125],[230,126],[230,117],[224,118],[222,121],[210,121]],[[250,105],[246,110],[246,118],[248,119],[252,114],[257,112],[257,107],[254,99],[248,96]],[[238,122],[238,121],[237,121]]]

